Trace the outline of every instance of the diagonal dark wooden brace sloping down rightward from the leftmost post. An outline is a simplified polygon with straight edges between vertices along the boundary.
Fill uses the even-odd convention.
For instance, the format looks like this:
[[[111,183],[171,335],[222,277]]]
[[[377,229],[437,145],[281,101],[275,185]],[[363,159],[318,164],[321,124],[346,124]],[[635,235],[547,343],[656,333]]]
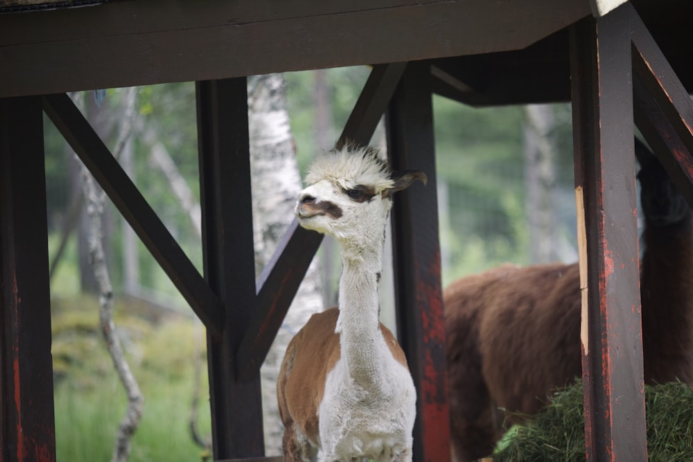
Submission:
[[[43,107],[193,311],[208,329],[216,330],[223,319],[216,295],[87,119],[66,94],[44,96]]]

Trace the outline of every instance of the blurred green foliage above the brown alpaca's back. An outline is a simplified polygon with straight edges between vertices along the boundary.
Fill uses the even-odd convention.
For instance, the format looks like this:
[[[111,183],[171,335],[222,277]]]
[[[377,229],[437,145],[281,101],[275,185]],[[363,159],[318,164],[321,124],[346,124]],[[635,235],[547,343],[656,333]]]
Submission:
[[[450,229],[441,226],[448,253],[443,267],[447,285],[455,278],[500,263],[527,265],[529,236],[525,211],[525,115],[523,107],[473,108],[433,97],[437,177],[446,185]],[[570,107],[555,105],[554,135],[559,194],[557,220],[574,242],[574,196]]]

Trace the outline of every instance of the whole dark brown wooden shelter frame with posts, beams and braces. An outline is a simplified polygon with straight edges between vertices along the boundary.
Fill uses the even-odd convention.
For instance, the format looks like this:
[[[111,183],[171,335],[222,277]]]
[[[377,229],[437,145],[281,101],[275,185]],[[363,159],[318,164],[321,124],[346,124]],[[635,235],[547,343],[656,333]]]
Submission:
[[[536,8],[546,16],[531,21],[527,28],[532,33],[519,37],[512,28],[498,27],[491,46],[464,39],[483,33],[492,21],[520,21],[531,18],[531,12],[511,3],[480,6],[482,0],[466,6],[432,0],[380,0],[371,5],[355,1],[348,9],[337,1],[301,1],[292,4],[293,9],[270,3],[220,6],[210,1],[191,9],[190,3],[178,2],[180,14],[159,22],[152,18],[161,3],[144,0],[81,12],[0,15],[0,462],[55,460],[42,112],[207,326],[215,460],[272,460],[263,458],[259,365],[320,237],[292,224],[265,272],[254,281],[245,75],[372,63],[383,64],[374,66],[342,138],[367,143],[385,114],[394,168],[423,170],[431,180],[416,197],[403,193],[393,211],[395,290],[398,336],[419,393],[415,460],[449,460],[431,95],[436,91],[476,100],[483,92],[446,67],[449,62],[439,60],[522,50],[565,28],[570,35],[571,80],[557,87],[551,98],[570,98],[573,105],[579,231],[584,231],[580,265],[586,451],[593,461],[647,460],[631,120],[634,116],[676,186],[693,204],[693,104],[635,8],[626,3],[595,18],[585,1],[561,6],[537,1]],[[485,14],[482,21],[468,23],[474,22],[476,29],[459,30],[458,24],[441,19],[476,7]],[[212,8],[232,19],[205,23],[213,16]],[[113,15],[111,22],[103,21],[103,11]],[[139,16],[132,16],[130,23],[123,20],[133,12]],[[90,23],[91,16],[102,22]],[[184,22],[188,16],[192,19]],[[326,33],[338,29],[344,17],[360,24],[352,32],[362,34],[363,43],[385,45],[349,48],[335,55],[345,43],[347,48],[356,46],[343,35]],[[546,17],[555,20],[549,24]],[[51,21],[61,18],[87,22],[79,30],[57,30]],[[430,34],[421,24],[436,18],[439,37],[416,35]],[[33,26],[30,32],[35,36],[28,38],[29,33],[17,26],[24,21]],[[412,33],[394,40],[383,37],[378,26],[387,21],[398,21],[398,27]],[[304,46],[258,42],[277,26],[303,40]],[[152,49],[126,56],[140,49],[135,42],[143,35],[148,35],[146,43]],[[200,62],[175,56],[191,49],[184,46],[191,37],[204,51]],[[316,37],[327,42],[316,44]],[[229,50],[217,44],[229,41],[236,53],[225,60]],[[88,48],[93,61],[84,59],[82,52],[71,57],[74,47]],[[240,53],[243,47],[256,54]],[[37,57],[48,59],[51,52],[55,60],[35,62]],[[121,65],[125,59],[133,61],[127,69]],[[152,76],[152,60],[172,64],[159,66],[166,72]],[[7,67],[10,63],[16,65]],[[59,72],[46,79],[41,69]],[[177,80],[197,81],[203,275],[64,94]]]

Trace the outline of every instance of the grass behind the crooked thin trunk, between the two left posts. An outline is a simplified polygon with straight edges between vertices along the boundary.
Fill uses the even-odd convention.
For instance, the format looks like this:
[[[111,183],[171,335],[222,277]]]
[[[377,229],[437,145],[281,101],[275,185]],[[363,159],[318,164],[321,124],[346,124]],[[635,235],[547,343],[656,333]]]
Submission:
[[[144,396],[130,461],[200,461],[204,452],[188,433],[193,321],[173,317],[152,322],[142,312],[137,303],[116,305],[123,348]],[[101,338],[95,298],[82,295],[53,300],[53,362],[58,461],[110,460],[127,398]],[[209,438],[206,364],[200,389],[198,425]]]

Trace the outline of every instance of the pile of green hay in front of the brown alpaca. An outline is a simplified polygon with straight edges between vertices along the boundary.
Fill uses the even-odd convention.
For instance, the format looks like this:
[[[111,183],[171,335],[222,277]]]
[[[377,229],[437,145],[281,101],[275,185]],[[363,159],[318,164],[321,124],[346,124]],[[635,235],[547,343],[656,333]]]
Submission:
[[[543,411],[507,432],[493,462],[584,462],[582,396],[580,381],[556,393]],[[649,461],[693,461],[693,389],[681,382],[646,385],[645,411]]]

